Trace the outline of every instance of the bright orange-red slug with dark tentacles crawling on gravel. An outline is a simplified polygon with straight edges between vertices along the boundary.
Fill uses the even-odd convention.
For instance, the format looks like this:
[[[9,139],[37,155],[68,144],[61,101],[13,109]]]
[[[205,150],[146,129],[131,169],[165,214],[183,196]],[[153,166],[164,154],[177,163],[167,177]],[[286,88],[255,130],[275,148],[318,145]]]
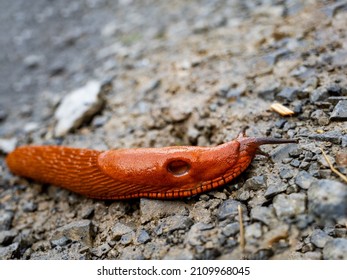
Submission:
[[[212,190],[241,174],[260,145],[296,140],[246,137],[216,147],[95,151],[23,146],[6,162],[12,173],[98,199],[180,198]]]

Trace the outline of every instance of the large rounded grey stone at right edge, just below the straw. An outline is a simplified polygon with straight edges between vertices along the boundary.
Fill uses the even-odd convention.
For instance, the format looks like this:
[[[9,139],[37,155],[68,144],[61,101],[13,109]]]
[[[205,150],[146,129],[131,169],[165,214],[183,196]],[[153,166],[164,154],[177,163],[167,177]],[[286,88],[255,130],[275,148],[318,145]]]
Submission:
[[[314,182],[307,195],[309,211],[320,224],[347,219],[347,185],[323,179]]]

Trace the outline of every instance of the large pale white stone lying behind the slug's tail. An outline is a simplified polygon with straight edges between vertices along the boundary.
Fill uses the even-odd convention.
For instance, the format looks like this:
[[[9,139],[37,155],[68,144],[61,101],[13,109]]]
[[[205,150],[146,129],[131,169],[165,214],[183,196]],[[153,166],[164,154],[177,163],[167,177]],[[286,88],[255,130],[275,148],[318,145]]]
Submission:
[[[101,84],[89,81],[85,86],[66,95],[55,112],[57,121],[54,134],[64,136],[78,128],[102,107]]]

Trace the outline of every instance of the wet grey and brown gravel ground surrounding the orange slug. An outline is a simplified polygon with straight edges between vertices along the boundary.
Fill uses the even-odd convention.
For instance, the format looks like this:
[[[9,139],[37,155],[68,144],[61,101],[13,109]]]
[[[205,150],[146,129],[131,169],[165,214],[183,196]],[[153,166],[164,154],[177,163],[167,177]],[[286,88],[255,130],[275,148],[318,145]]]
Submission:
[[[0,259],[347,259],[347,185],[321,151],[347,174],[347,1],[186,2],[1,1]],[[4,161],[24,144],[214,146],[245,126],[299,143],[188,199],[88,199]]]

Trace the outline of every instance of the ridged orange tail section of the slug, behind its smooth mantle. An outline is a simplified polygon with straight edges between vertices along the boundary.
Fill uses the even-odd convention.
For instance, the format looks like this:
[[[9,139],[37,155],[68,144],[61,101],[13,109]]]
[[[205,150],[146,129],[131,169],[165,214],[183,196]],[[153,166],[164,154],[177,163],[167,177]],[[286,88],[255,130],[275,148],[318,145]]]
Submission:
[[[60,146],[23,146],[6,158],[16,175],[64,187],[88,197],[107,196],[114,180],[97,166],[101,152]]]

